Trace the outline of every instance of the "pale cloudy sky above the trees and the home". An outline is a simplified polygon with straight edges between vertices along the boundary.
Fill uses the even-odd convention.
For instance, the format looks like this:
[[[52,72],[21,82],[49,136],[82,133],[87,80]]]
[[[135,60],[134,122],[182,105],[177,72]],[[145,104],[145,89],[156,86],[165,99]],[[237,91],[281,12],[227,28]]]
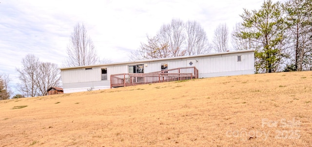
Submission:
[[[277,0],[273,0],[274,2]],[[285,0],[280,0],[285,1]],[[73,27],[84,23],[101,58],[129,61],[127,54],[172,18],[196,20],[211,41],[215,28],[230,32],[243,8],[263,0],[0,0],[0,74],[19,82],[16,68],[26,54],[61,65]]]

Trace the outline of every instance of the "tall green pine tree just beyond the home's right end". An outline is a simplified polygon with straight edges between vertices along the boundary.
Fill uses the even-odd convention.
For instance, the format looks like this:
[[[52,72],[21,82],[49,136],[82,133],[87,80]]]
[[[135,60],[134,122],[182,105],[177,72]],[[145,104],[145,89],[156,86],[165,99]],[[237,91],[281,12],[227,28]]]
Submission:
[[[283,60],[283,44],[286,25],[279,2],[264,1],[260,10],[248,11],[240,15],[245,32],[240,32],[243,39],[250,39],[255,46],[256,73],[275,72]]]

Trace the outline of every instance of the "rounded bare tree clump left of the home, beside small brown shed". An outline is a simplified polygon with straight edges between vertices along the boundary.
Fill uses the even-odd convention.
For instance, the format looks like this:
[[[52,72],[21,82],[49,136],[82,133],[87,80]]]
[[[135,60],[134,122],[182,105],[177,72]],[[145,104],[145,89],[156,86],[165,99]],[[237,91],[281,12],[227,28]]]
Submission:
[[[45,96],[49,87],[60,85],[58,65],[39,62],[32,54],[22,59],[22,66],[17,71],[20,74],[18,90],[25,97]]]

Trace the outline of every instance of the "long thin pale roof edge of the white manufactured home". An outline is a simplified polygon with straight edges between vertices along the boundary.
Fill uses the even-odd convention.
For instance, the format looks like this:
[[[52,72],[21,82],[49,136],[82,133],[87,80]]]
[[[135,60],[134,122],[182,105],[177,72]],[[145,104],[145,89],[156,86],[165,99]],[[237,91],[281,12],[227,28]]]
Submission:
[[[217,53],[200,54],[200,55],[192,55],[192,56],[158,58],[158,59],[139,60],[139,61],[130,61],[130,62],[119,62],[119,63],[100,64],[100,65],[83,65],[83,66],[75,66],[75,67],[62,67],[62,68],[59,68],[59,69],[60,70],[64,70],[64,69],[75,69],[75,68],[86,68],[86,67],[90,67],[91,68],[91,67],[96,67],[96,66],[107,66],[107,65],[134,64],[134,63],[141,63],[141,62],[162,61],[162,60],[171,60],[171,59],[185,59],[185,58],[215,56],[215,55],[232,54],[232,53],[240,53],[240,52],[252,52],[252,51],[254,52],[254,49],[217,52]]]

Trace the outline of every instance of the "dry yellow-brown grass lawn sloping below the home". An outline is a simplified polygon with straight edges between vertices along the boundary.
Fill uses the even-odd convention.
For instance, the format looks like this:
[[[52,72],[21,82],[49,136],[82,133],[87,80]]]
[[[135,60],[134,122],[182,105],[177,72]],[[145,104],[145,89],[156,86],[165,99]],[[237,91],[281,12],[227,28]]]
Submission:
[[[312,72],[1,100],[0,112],[0,147],[312,147]]]

